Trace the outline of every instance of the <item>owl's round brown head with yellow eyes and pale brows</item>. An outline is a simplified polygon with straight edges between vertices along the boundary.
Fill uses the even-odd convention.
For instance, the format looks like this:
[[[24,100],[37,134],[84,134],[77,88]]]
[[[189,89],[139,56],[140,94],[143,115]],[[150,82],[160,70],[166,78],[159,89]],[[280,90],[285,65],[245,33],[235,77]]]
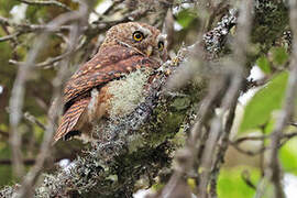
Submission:
[[[119,44],[133,47],[143,55],[161,63],[165,62],[167,57],[166,35],[145,23],[128,22],[112,26],[107,32],[101,47]]]

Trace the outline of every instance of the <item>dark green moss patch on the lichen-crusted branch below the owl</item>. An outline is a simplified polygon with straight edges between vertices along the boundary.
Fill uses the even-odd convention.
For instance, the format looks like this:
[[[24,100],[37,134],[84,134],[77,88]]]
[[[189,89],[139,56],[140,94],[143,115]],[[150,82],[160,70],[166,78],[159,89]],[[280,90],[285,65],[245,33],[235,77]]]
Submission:
[[[167,97],[161,99],[158,106],[154,109],[151,123],[142,130],[146,143],[155,147],[166,140],[173,139],[183,128],[188,116],[195,109],[195,103],[200,100],[205,94],[206,85],[189,84],[182,91],[183,97]],[[173,142],[175,144],[175,142]]]

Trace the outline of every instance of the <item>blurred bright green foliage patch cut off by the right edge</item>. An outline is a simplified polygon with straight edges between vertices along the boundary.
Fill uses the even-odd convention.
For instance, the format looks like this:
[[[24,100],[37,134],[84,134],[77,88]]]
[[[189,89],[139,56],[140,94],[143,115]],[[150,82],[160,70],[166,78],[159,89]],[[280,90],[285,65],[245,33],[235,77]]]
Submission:
[[[279,151],[283,168],[297,175],[297,139],[289,140]]]

